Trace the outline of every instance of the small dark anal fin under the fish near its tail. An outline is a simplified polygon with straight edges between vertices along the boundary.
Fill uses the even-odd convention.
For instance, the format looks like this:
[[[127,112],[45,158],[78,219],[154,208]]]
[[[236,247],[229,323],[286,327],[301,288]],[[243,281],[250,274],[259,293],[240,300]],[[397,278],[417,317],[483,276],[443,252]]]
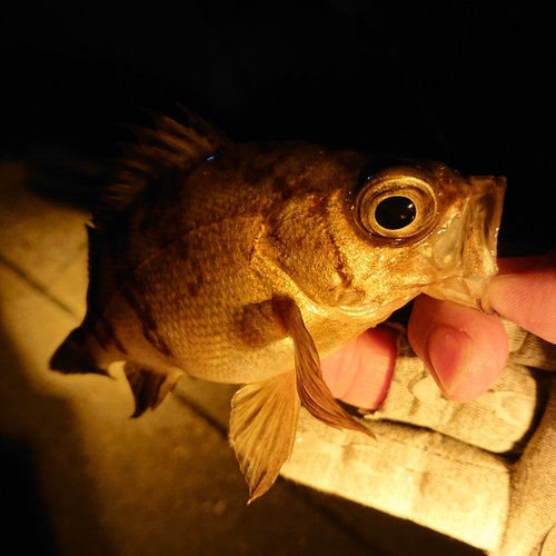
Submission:
[[[180,369],[172,368],[158,373],[131,361],[126,363],[123,370],[136,400],[136,410],[131,417],[139,417],[149,408],[156,409],[173,390],[178,378],[182,375]]]

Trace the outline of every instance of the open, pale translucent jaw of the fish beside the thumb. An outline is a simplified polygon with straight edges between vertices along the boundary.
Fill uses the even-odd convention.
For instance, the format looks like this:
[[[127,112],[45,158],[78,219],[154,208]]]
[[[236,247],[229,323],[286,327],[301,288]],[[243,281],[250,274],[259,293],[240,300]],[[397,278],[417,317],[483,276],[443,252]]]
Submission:
[[[468,178],[471,192],[460,216],[431,239],[431,259],[441,279],[423,288],[430,297],[493,312],[487,288],[497,274],[496,245],[506,179]]]

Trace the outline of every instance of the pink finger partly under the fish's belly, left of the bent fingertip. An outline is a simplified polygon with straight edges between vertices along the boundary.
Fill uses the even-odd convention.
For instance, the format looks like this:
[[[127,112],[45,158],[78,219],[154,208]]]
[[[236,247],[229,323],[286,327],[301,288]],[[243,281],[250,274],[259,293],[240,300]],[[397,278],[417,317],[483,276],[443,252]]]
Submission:
[[[332,395],[355,407],[378,409],[396,365],[396,331],[379,326],[322,359],[322,376]]]

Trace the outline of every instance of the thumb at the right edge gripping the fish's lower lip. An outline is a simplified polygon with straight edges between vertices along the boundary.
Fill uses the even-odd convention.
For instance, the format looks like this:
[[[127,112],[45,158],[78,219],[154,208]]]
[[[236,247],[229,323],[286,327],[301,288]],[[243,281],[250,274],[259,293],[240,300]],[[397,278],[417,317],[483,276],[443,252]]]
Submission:
[[[488,300],[502,316],[556,344],[556,251],[544,257],[502,259]]]

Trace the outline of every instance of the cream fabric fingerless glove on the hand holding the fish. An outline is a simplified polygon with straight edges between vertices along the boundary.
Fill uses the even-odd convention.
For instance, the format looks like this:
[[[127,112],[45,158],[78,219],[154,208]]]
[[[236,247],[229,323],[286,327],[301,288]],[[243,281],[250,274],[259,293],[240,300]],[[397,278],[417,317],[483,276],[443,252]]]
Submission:
[[[301,413],[282,475],[458,538],[492,556],[556,555],[556,346],[512,322],[509,363],[468,404],[445,399],[401,334],[376,435]]]

